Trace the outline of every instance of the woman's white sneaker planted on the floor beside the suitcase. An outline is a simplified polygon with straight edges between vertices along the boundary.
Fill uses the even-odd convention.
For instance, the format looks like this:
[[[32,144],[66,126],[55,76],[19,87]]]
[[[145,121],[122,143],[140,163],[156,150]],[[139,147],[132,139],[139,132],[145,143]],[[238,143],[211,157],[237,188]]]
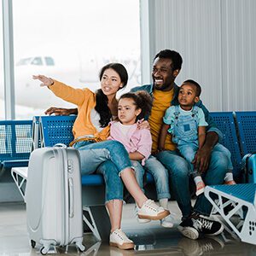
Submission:
[[[109,236],[109,245],[119,247],[119,249],[133,249],[134,243],[129,239],[122,230],[114,230]]]

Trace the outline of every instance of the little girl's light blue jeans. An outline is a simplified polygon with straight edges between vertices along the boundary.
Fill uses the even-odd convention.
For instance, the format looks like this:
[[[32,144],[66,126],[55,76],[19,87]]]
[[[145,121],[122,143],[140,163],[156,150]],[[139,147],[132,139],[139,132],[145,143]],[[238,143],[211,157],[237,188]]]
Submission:
[[[159,160],[157,160],[153,155],[150,155],[149,158],[145,160],[145,166],[142,166],[137,160],[131,160],[131,164],[135,170],[137,183],[141,189],[143,189],[144,174],[146,170],[154,177],[157,199],[171,198],[168,171]]]

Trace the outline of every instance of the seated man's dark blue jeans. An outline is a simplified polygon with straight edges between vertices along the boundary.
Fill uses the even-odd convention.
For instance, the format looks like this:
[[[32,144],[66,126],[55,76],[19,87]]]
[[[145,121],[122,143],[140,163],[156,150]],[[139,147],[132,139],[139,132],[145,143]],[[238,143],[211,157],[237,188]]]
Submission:
[[[193,208],[189,191],[189,164],[177,151],[162,151],[156,155],[157,159],[166,166],[171,178],[171,185],[175,193],[178,207],[183,218],[189,217]],[[209,168],[202,178],[207,185],[221,184],[228,168],[228,157],[221,152],[212,151]],[[209,216],[212,204],[205,195],[201,194],[195,201],[194,211]]]

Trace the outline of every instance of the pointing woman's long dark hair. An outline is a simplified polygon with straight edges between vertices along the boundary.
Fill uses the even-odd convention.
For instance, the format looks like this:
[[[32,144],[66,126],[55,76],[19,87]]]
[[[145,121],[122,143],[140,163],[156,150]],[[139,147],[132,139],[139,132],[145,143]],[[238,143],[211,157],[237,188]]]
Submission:
[[[123,88],[125,88],[128,81],[128,73],[125,67],[120,63],[108,63],[106,66],[102,67],[102,70],[99,73],[100,80],[102,80],[103,73],[108,68],[113,69],[116,73],[119,74]],[[112,113],[108,108],[108,97],[103,93],[102,89],[96,90],[96,112],[100,114],[100,125],[101,127],[108,126],[108,123],[111,120]]]

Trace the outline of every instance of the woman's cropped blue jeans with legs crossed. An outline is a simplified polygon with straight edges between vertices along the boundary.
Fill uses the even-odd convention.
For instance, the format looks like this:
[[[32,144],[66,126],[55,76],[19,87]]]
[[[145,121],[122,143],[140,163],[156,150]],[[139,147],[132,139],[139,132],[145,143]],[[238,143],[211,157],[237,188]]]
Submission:
[[[75,143],[73,147],[79,150],[82,175],[93,172],[103,174],[106,202],[123,200],[124,185],[119,175],[125,168],[131,168],[131,161],[123,144],[117,141],[84,141]]]

